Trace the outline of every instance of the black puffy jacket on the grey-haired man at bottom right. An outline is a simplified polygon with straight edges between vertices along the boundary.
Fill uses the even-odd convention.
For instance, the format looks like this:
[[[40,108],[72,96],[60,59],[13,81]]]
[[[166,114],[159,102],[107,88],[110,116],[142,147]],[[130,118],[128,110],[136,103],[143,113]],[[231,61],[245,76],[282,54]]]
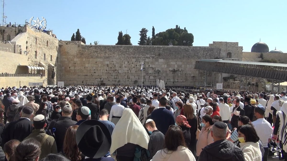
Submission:
[[[198,161],[244,161],[243,152],[228,140],[218,140],[201,151]]]

